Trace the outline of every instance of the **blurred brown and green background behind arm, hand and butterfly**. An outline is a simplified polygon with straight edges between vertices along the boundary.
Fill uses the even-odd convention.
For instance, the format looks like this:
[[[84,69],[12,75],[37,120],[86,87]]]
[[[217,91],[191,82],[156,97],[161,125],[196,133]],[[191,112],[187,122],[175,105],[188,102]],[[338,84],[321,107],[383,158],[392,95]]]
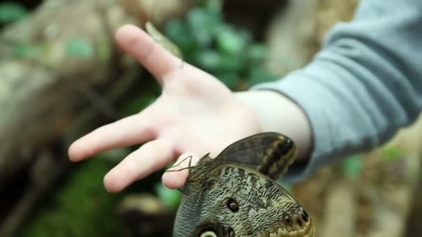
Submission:
[[[357,0],[0,1],[0,236],[171,236],[180,200],[162,172],[110,194],[103,175],[134,148],[71,164],[71,141],[160,94],[114,42],[153,23],[186,62],[233,90],[303,67]],[[422,121],[382,148],[283,184],[316,236],[422,236]],[[341,233],[341,234],[339,234]]]

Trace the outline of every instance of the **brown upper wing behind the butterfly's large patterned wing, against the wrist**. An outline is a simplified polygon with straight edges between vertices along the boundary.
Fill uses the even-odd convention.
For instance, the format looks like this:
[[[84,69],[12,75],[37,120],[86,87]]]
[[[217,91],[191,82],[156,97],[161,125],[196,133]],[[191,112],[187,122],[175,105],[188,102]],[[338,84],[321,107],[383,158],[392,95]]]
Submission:
[[[278,179],[295,157],[296,146],[291,139],[276,132],[264,132],[231,144],[215,161],[240,164],[258,170],[271,179]]]

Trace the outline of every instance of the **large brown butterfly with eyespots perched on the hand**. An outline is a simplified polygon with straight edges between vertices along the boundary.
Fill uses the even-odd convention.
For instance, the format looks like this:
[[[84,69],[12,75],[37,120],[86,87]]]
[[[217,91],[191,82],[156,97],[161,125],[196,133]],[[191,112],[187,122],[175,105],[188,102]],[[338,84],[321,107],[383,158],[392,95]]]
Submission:
[[[276,132],[205,155],[188,167],[173,236],[314,236],[310,216],[275,181],[295,157],[293,141]]]

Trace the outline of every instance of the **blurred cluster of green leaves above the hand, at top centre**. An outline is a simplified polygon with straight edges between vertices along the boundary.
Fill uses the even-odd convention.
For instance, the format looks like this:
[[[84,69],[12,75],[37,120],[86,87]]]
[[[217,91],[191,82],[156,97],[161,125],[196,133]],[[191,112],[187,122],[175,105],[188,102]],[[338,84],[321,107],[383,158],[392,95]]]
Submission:
[[[164,33],[184,59],[219,78],[230,89],[244,89],[277,77],[265,68],[267,46],[253,42],[246,29],[223,19],[220,0],[201,1],[184,19],[168,22]]]

